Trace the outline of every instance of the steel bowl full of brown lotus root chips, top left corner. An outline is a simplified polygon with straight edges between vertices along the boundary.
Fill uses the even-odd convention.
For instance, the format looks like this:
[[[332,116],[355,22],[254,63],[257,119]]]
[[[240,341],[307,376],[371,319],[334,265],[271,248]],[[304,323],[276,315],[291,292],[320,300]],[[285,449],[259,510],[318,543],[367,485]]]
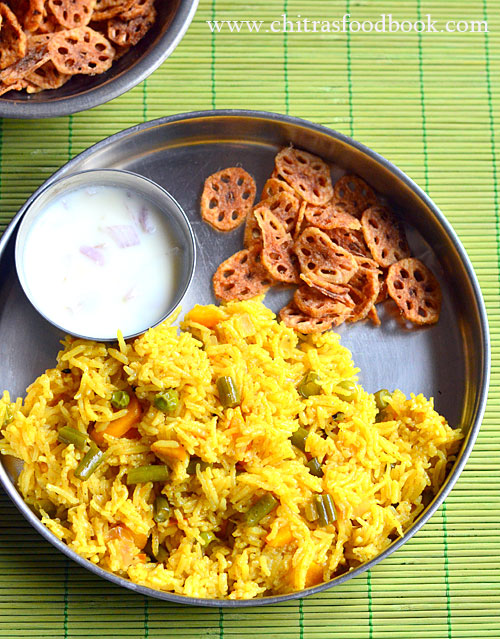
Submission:
[[[57,117],[118,97],[172,53],[197,5],[198,0],[0,2],[0,117]]]

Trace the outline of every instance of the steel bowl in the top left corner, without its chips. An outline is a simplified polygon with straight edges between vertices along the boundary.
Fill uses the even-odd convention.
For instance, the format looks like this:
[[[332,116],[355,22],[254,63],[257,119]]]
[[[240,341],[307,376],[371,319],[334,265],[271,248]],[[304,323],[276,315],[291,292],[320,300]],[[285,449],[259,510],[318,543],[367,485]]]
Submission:
[[[76,75],[59,89],[40,93],[9,91],[0,97],[0,117],[54,118],[109,102],[148,77],[168,58],[189,27],[198,0],[158,2],[154,25],[147,35],[105,73]]]

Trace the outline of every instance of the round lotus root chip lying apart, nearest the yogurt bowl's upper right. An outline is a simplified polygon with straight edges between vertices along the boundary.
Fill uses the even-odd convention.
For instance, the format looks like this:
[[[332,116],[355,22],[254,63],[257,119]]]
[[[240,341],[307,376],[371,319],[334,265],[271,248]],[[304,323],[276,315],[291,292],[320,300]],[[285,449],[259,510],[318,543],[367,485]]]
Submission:
[[[239,167],[230,167],[205,180],[201,216],[218,231],[237,228],[252,210],[255,181]]]

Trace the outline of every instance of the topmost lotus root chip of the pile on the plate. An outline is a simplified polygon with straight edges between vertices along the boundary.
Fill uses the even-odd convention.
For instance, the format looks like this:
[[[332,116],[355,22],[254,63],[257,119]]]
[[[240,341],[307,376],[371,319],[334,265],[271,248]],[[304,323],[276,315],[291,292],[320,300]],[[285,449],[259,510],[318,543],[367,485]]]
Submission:
[[[310,204],[326,204],[332,199],[330,167],[321,158],[289,146],[275,158],[280,175]]]

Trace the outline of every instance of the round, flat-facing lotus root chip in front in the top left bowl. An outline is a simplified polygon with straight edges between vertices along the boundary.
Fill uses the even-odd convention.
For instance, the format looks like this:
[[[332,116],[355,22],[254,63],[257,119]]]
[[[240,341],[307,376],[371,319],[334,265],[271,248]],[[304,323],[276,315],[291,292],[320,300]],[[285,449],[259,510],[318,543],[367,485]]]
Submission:
[[[115,57],[115,50],[108,40],[90,27],[60,31],[47,47],[56,69],[68,75],[104,73]]]

